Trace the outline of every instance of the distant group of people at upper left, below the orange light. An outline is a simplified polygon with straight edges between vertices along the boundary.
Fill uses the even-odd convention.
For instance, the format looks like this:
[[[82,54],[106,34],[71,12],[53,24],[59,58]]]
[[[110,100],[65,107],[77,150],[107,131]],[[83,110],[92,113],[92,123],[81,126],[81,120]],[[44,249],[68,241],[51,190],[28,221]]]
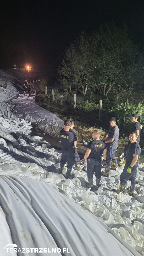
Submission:
[[[32,80],[32,81],[25,80],[22,93],[28,92],[28,94],[30,96],[31,92],[35,93],[35,92],[40,92],[40,91],[41,91],[40,79],[37,79],[36,81],[35,80]]]

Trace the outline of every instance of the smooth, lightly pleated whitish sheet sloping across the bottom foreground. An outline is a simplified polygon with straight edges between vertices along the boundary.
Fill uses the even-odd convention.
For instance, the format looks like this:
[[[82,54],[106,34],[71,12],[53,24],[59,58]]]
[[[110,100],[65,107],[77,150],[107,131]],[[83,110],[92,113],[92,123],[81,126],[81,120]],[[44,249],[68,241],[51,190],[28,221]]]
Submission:
[[[0,251],[3,256],[8,255],[4,246],[11,243],[21,250],[60,248],[63,251],[67,248],[70,252],[25,255],[138,255],[123,240],[117,240],[93,214],[60,193],[57,187],[13,175],[0,175],[0,183]]]

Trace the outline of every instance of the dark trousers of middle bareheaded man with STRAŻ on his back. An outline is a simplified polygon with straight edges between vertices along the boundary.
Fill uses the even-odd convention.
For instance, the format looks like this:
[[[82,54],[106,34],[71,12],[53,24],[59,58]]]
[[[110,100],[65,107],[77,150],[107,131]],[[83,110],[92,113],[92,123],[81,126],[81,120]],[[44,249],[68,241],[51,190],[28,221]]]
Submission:
[[[87,158],[87,175],[88,179],[93,179],[93,175],[95,172],[96,178],[101,178],[101,167],[102,162],[101,158],[94,159],[94,158]]]

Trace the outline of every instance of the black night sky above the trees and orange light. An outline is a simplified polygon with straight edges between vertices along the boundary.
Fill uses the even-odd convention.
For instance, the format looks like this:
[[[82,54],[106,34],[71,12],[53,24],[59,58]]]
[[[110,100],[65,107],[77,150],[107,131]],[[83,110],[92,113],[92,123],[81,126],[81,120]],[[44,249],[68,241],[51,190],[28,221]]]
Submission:
[[[143,0],[5,0],[0,6],[0,68],[31,63],[56,74],[64,50],[82,30],[91,34],[112,21],[126,24],[143,49]]]

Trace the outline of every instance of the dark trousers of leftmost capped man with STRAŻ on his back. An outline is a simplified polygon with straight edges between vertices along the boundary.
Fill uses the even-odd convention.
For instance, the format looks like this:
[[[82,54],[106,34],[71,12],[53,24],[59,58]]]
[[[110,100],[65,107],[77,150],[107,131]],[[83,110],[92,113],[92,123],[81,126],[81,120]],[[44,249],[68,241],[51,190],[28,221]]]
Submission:
[[[61,153],[62,153],[62,157],[60,161],[61,170],[64,168],[64,164],[66,162],[67,162],[67,168],[71,170],[74,164],[74,159],[75,159],[74,148],[72,149],[61,148]]]

